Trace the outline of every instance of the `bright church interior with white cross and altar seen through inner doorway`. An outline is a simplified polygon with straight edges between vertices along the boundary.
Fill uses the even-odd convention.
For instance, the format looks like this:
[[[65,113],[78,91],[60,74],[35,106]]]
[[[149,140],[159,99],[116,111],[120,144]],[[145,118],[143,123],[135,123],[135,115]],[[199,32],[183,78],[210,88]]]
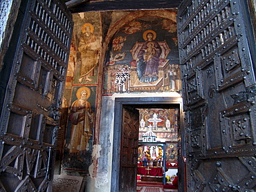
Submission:
[[[137,109],[137,191],[145,187],[177,191],[179,108],[174,105]]]

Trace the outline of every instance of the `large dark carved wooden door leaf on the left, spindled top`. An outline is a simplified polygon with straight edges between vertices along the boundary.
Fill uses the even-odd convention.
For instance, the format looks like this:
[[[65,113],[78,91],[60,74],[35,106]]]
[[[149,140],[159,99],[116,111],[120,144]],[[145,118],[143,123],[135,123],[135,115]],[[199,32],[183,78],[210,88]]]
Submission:
[[[5,58],[12,70],[0,119],[0,191],[51,191],[73,28],[60,2],[21,1],[17,46]]]

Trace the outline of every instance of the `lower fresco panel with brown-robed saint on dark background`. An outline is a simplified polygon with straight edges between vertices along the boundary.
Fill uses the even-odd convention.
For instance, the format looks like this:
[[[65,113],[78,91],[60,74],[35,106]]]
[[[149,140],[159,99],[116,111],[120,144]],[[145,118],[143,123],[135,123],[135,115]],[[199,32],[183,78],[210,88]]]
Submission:
[[[73,86],[62,171],[89,173],[95,127],[96,86]]]

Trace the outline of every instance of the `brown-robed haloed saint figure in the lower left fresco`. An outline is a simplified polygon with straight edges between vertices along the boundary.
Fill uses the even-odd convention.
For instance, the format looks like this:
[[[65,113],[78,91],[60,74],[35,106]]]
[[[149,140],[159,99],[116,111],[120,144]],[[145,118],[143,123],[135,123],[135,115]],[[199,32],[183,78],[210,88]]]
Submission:
[[[91,104],[87,99],[91,95],[91,91],[87,87],[82,87],[77,90],[77,100],[71,106],[69,119],[72,122],[71,140],[68,145],[69,153],[77,156],[84,154],[86,145],[92,135],[93,129],[93,111]],[[82,160],[80,160],[82,161]]]

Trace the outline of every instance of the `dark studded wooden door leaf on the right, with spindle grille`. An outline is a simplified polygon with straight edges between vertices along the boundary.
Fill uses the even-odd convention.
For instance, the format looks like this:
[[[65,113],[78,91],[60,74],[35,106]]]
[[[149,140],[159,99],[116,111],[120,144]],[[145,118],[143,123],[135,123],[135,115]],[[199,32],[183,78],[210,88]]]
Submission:
[[[246,1],[193,0],[178,30],[188,191],[255,191],[255,74]]]

